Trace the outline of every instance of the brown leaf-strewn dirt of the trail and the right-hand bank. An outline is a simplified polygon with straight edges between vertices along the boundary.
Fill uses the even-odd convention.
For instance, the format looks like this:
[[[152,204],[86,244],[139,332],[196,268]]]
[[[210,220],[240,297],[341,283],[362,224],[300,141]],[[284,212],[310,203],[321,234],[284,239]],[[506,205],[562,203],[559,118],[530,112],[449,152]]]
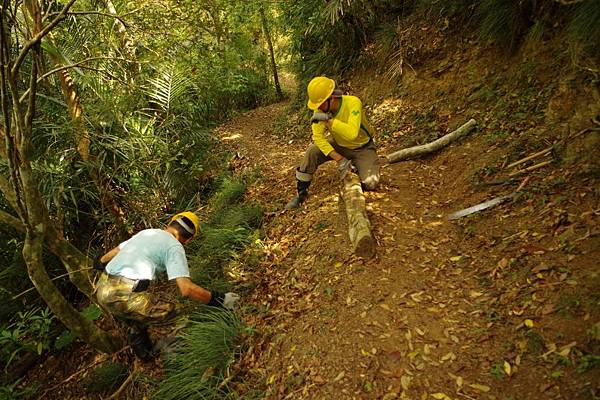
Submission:
[[[395,164],[382,157],[381,187],[365,195],[378,245],[370,260],[353,255],[333,163],[318,170],[299,210],[282,211],[310,143],[306,121],[288,123],[283,134],[276,128],[281,115],[293,115],[286,103],[218,129],[236,153],[232,168],[258,173],[247,197],[266,211],[263,258],[244,277],[254,287],[244,318],[256,332],[237,366],[245,376],[238,392],[269,399],[600,398],[600,175],[588,155],[598,154],[598,126],[565,105],[577,96],[564,95],[560,83],[543,92],[551,82],[529,60],[479,71],[473,84],[467,79],[477,72],[461,66],[461,55],[477,56],[435,60],[420,76],[409,74],[400,95],[370,93],[380,156],[414,144],[419,132],[425,142],[471,117],[479,123],[436,154]],[[493,65],[493,57],[481,65]],[[499,73],[506,81],[488,89]],[[363,98],[374,90],[360,82],[353,89]],[[485,90],[492,90],[489,108],[478,97],[490,96]],[[598,112],[596,100],[589,100],[592,111],[580,109]],[[553,114],[565,107],[568,118]],[[419,125],[423,116],[427,123]],[[507,168],[549,146],[548,155]],[[447,219],[519,186],[509,202]]]

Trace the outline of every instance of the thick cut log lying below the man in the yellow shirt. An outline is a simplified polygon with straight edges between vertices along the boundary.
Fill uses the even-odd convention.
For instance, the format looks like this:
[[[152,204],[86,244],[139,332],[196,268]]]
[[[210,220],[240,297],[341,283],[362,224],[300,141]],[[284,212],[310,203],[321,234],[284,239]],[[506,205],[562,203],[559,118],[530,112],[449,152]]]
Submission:
[[[354,254],[363,258],[373,257],[375,255],[375,239],[371,235],[371,223],[367,217],[365,195],[356,174],[346,175],[340,197],[346,208],[348,234],[354,247]]]

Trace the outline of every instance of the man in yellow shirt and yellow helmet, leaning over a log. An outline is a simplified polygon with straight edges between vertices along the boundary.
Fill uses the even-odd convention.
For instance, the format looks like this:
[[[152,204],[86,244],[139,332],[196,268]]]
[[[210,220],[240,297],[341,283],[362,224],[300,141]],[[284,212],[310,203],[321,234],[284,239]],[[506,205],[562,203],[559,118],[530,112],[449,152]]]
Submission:
[[[308,108],[314,112],[310,120],[313,143],[296,169],[298,195],[285,208],[298,208],[306,200],[313,174],[319,165],[330,160],[337,162],[342,179],[356,168],[363,189],[377,189],[379,158],[373,129],[360,99],[343,96],[340,90],[335,90],[333,79],[326,76],[313,78],[307,91]]]

